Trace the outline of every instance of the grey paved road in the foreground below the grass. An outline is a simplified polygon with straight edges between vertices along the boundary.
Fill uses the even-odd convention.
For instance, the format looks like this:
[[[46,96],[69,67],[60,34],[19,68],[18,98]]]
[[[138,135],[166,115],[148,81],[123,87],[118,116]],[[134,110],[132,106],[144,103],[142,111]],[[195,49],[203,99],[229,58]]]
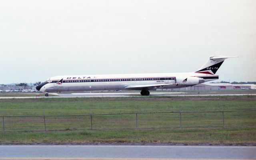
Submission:
[[[256,159],[256,146],[2,145],[0,159]]]

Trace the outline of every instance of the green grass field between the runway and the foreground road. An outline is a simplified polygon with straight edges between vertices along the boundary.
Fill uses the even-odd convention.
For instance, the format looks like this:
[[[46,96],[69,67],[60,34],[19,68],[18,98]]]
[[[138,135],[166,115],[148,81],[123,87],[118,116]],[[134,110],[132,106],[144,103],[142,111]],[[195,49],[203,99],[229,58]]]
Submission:
[[[137,112],[255,110],[256,96],[38,98],[0,100],[1,143],[256,144],[256,111],[51,116]],[[5,127],[5,133],[3,131]]]

